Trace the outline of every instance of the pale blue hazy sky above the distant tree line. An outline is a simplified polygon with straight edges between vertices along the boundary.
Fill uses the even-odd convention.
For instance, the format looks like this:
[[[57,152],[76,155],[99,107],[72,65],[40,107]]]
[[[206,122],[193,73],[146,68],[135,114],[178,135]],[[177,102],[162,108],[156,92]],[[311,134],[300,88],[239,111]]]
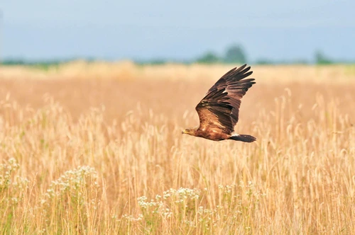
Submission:
[[[355,60],[355,1],[1,0],[2,58]]]

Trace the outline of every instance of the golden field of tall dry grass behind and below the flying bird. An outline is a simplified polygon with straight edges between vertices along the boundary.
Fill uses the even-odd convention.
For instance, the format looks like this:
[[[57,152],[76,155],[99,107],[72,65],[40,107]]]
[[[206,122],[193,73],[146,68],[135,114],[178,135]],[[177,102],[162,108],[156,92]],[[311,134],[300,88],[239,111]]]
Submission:
[[[234,65],[0,67],[2,234],[354,234],[355,67],[253,66],[236,131],[182,135]]]

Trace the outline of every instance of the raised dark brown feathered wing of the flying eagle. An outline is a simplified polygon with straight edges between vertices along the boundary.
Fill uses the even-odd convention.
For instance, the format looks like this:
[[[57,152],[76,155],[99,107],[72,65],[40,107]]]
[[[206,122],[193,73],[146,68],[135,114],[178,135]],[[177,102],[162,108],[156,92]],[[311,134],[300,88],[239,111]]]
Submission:
[[[255,84],[255,79],[245,79],[253,73],[249,70],[250,67],[246,67],[246,64],[238,69],[231,69],[209,88],[206,96],[196,106],[200,128],[219,129],[226,134],[234,131],[241,98]]]

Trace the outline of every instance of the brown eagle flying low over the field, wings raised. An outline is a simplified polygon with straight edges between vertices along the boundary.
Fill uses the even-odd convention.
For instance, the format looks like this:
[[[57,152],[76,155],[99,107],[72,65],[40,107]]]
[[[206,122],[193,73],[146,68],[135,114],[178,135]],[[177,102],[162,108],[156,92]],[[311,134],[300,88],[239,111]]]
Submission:
[[[200,126],[188,128],[182,134],[214,141],[224,139],[242,142],[255,141],[256,138],[251,135],[234,133],[234,126],[238,122],[241,98],[255,84],[255,79],[245,79],[253,73],[249,70],[250,67],[246,67],[246,64],[238,69],[231,69],[209,88],[206,96],[196,106],[200,117]]]

